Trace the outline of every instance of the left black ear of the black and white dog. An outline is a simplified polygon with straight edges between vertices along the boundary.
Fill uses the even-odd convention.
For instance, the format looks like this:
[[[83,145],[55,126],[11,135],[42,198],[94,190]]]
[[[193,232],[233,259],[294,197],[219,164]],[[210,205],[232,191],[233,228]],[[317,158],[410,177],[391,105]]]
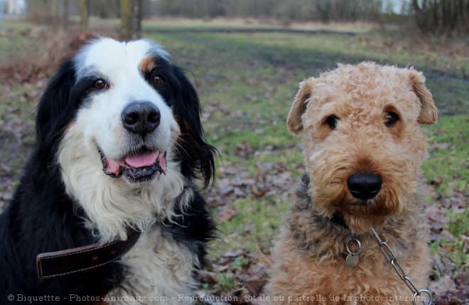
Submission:
[[[75,83],[75,70],[71,61],[60,66],[50,79],[38,104],[36,116],[37,153],[45,162],[55,157],[58,142],[75,116],[75,101],[70,98],[70,91]]]

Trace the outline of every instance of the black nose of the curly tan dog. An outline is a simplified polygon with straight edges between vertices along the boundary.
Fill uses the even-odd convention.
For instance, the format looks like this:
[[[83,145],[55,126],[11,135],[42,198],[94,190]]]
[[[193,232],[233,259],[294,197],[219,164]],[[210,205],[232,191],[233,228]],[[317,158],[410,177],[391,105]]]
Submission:
[[[382,179],[379,174],[360,172],[347,178],[350,194],[357,199],[372,199],[381,189]]]

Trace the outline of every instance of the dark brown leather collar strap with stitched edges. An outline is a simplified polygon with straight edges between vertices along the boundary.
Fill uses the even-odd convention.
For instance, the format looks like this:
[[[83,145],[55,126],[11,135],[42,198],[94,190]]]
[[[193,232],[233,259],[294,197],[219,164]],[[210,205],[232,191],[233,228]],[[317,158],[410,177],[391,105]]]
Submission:
[[[40,253],[36,257],[38,277],[48,279],[106,265],[127,253],[139,240],[140,234],[139,231],[130,229],[126,240],[114,240],[104,245],[95,243],[79,248]]]

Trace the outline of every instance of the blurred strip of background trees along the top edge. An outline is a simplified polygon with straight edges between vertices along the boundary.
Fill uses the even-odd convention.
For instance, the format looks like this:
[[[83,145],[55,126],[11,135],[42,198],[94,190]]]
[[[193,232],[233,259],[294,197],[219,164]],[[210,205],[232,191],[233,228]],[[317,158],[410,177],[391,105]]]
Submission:
[[[26,14],[53,28],[69,15],[122,18],[122,38],[141,35],[141,18],[255,18],[292,22],[397,23],[424,34],[467,35],[469,0],[0,0],[4,11],[26,5]]]

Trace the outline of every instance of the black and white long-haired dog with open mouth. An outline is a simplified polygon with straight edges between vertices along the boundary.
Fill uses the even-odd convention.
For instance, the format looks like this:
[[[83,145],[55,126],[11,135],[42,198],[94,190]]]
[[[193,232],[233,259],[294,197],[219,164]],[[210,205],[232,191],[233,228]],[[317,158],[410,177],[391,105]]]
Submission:
[[[214,229],[196,181],[210,184],[216,150],[170,55],[149,40],[85,45],[50,80],[36,133],[0,216],[0,304],[192,296]]]

